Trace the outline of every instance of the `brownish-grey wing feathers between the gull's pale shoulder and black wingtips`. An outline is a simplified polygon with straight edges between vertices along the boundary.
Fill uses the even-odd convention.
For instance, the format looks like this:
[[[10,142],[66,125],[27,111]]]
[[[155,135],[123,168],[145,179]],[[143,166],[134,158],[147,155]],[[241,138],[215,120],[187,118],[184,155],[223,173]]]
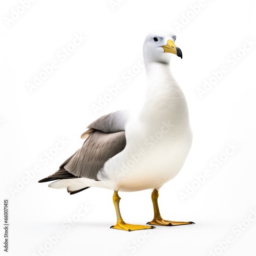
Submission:
[[[104,133],[96,130],[64,168],[77,177],[97,180],[97,174],[104,163],[123,151],[125,145],[124,132]]]

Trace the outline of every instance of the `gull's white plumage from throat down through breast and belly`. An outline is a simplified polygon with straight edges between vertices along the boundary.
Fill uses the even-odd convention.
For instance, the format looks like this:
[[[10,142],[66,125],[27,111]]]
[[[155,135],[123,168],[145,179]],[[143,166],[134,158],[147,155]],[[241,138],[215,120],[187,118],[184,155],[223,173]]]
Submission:
[[[145,103],[125,129],[125,149],[104,165],[111,189],[158,189],[179,173],[190,150],[192,134],[182,90],[169,68],[159,63],[148,78]]]

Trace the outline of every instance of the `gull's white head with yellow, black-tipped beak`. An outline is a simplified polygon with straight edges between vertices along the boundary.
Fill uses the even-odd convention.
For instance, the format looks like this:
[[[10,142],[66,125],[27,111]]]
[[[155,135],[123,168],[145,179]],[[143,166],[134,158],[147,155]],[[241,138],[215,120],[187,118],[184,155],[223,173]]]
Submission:
[[[169,63],[170,53],[182,58],[182,52],[174,42],[174,33],[150,33],[146,36],[143,45],[143,57],[145,62]]]

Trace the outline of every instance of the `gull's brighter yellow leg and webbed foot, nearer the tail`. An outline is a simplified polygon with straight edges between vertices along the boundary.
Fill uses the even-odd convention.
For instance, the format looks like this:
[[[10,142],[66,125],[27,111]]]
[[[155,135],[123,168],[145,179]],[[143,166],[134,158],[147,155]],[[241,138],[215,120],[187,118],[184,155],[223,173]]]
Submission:
[[[121,198],[118,196],[117,191],[114,191],[113,202],[114,202],[115,209],[116,209],[117,222],[116,222],[116,225],[112,226],[111,228],[121,229],[121,230],[126,230],[126,231],[155,228],[153,226],[133,225],[133,224],[125,223],[120,214],[120,209],[119,209],[120,199]]]

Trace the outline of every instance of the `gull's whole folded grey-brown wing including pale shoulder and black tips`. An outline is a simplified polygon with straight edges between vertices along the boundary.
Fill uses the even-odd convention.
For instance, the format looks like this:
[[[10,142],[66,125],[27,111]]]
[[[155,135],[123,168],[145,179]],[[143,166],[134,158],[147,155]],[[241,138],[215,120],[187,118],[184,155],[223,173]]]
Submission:
[[[117,111],[92,122],[82,134],[82,147],[63,162],[59,170],[39,182],[84,177],[97,180],[104,163],[123,151],[126,145],[127,111]]]

